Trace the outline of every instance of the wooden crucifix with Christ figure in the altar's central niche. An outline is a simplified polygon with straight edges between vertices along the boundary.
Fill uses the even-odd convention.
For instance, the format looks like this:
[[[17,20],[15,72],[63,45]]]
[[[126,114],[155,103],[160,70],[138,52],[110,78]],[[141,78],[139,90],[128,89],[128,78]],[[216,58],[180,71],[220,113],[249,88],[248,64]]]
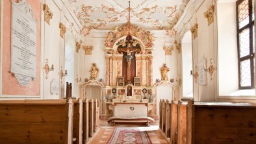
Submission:
[[[133,47],[131,42],[127,42],[125,47],[118,47],[118,53],[123,53],[123,69],[126,69],[126,81],[127,83],[131,83],[131,78],[135,77],[135,69],[136,67],[133,66],[134,58],[135,58],[135,53],[140,53],[141,49],[139,46]],[[124,64],[124,61],[126,64]],[[134,63],[135,64],[135,63]],[[126,67],[124,67],[126,66]],[[124,72],[124,71],[123,71]],[[132,72],[134,72],[134,75],[132,75]]]

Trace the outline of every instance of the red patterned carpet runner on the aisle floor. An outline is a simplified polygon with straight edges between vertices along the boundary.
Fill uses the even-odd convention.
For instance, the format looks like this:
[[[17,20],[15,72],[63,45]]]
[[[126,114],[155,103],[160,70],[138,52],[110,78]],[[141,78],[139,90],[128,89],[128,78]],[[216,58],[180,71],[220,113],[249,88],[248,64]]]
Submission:
[[[108,144],[151,144],[151,140],[145,130],[140,128],[116,127],[108,141]]]

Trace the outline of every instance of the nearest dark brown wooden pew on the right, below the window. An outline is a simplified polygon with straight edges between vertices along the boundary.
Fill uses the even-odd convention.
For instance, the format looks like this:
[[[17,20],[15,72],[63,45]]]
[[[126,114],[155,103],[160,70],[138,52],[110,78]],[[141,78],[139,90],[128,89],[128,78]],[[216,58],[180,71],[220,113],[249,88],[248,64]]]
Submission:
[[[256,143],[256,106],[188,102],[188,144]]]

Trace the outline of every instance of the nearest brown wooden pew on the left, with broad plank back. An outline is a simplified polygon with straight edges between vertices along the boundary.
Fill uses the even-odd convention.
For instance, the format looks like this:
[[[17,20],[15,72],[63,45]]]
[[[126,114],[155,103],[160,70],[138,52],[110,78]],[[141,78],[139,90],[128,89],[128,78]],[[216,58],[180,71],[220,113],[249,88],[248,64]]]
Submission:
[[[0,101],[1,143],[72,143],[73,102]]]

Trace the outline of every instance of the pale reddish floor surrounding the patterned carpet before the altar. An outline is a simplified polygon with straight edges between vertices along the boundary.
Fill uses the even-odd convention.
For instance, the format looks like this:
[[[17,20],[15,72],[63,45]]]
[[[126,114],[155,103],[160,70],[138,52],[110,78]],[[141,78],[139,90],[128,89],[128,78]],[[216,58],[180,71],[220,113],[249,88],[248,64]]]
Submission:
[[[116,125],[115,125],[116,126]],[[107,121],[100,121],[100,127],[97,130],[96,134],[92,138],[89,139],[88,143],[107,143],[110,139],[110,136],[114,130],[114,127],[107,123]],[[118,125],[118,126],[124,126],[124,125]],[[131,127],[131,126],[129,126]],[[136,126],[138,127],[138,126]],[[147,131],[147,134],[149,135],[149,138],[151,139],[152,143],[168,143],[164,136],[162,136],[158,123],[153,123],[149,126],[140,126],[140,128],[143,128],[143,130]]]

